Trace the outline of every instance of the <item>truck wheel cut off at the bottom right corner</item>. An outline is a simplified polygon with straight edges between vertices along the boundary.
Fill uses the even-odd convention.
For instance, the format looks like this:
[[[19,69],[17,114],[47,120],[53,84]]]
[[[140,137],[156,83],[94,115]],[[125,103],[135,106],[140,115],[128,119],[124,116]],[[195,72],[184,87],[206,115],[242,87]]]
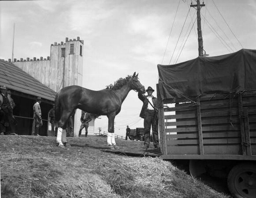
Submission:
[[[248,162],[234,166],[229,172],[228,187],[235,198],[255,198],[256,164]]]

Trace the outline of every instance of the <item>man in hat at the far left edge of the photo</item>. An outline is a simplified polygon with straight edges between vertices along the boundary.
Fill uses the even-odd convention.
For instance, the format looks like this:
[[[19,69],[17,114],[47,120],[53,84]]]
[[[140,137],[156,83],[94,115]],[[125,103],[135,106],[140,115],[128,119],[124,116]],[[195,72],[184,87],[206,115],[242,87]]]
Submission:
[[[6,86],[0,87],[0,97],[2,99],[2,104],[0,107],[0,133],[5,135],[10,134],[10,131],[7,131],[7,128],[10,126],[10,123],[12,122],[11,104],[8,100],[7,90],[8,89],[6,88]]]

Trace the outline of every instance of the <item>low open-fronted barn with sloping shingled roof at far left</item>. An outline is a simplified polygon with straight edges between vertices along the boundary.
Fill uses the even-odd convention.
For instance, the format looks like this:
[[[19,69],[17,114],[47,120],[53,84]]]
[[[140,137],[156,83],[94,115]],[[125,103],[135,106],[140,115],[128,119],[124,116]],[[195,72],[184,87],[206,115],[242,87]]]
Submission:
[[[11,90],[15,102],[13,114],[17,120],[16,133],[31,135],[33,122],[33,105],[37,97],[42,98],[40,104],[43,126],[39,134],[49,135],[49,111],[53,108],[56,92],[48,88],[14,64],[0,59],[0,85]]]

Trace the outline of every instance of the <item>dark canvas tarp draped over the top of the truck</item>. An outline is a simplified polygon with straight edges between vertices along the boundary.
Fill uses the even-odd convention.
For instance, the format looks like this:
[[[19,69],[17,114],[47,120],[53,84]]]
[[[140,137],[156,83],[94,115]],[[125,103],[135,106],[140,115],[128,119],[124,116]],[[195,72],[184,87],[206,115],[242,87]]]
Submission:
[[[252,49],[157,67],[163,99],[256,90],[256,50]]]

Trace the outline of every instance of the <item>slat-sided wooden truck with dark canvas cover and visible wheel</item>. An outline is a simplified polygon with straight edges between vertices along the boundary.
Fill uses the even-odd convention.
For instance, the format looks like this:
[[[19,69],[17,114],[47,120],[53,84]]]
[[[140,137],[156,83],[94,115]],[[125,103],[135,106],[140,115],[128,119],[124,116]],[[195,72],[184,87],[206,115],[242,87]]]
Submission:
[[[245,56],[248,51],[244,50],[238,52]],[[254,80],[253,74],[256,77],[256,51],[250,50],[250,59],[242,61],[249,63],[242,70],[245,81],[241,80],[237,68],[229,68],[229,73],[222,71],[229,62],[234,65],[239,62],[238,52],[198,57],[177,65],[158,65],[160,144],[163,159],[189,160],[192,176],[208,172],[228,178],[234,197],[255,198],[256,82],[247,81]],[[230,61],[234,56],[235,61]],[[214,71],[213,68],[207,71],[215,74],[201,78],[199,70],[195,69],[198,64],[203,74],[204,66],[214,65]],[[214,82],[218,82],[219,87],[213,85]]]

